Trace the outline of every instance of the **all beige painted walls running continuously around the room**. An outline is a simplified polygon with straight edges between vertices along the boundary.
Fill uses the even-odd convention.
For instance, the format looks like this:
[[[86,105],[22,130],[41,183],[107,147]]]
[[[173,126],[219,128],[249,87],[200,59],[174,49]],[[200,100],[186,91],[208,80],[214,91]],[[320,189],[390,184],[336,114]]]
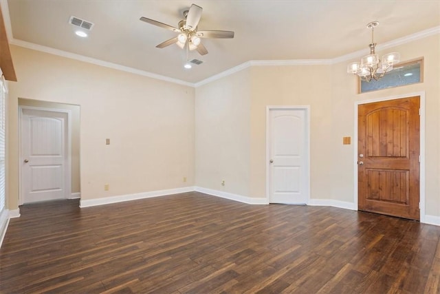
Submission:
[[[265,197],[266,107],[310,105],[311,198],[353,202],[355,150],[342,137],[354,139],[355,103],[423,91],[426,213],[440,216],[439,44],[437,34],[388,48],[404,60],[423,56],[424,82],[368,94],[356,94],[349,61],[253,66],[194,90],[12,46],[19,83],[9,84],[9,207],[18,195],[18,97],[80,105],[84,199],[191,185]]]

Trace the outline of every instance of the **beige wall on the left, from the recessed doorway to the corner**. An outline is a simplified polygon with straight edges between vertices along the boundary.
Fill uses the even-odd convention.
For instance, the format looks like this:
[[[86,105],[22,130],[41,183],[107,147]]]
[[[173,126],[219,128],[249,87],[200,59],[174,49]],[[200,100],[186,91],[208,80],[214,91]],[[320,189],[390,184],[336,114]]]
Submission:
[[[14,45],[11,51],[19,82],[9,83],[9,209],[18,207],[18,98],[80,105],[83,200],[194,185],[192,87]]]

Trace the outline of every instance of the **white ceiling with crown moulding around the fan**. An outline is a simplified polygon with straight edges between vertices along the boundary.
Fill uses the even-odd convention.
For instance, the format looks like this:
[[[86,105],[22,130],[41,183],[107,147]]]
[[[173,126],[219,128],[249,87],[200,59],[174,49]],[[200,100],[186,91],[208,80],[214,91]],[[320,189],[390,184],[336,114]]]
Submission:
[[[192,3],[203,8],[199,30],[232,30],[235,37],[203,39],[209,53],[190,52],[191,59],[203,64],[184,70],[184,51],[177,45],[155,48],[176,33],[139,19],[177,27]],[[8,0],[6,4],[11,43],[43,45],[189,83],[251,60],[334,59],[366,49],[370,21],[380,22],[375,30],[379,44],[440,25],[440,1]],[[71,16],[95,24],[87,38],[74,34]]]

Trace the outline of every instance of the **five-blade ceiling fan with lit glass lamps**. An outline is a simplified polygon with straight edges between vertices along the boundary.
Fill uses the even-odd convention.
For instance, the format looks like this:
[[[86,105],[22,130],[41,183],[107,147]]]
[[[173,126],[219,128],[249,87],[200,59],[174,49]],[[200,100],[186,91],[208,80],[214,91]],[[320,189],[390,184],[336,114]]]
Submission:
[[[177,44],[182,49],[197,50],[199,54],[205,55],[208,54],[208,50],[201,43],[202,38],[232,39],[234,38],[234,32],[227,30],[197,30],[202,10],[203,8],[200,6],[192,4],[189,10],[184,11],[185,19],[179,21],[178,28],[153,19],[147,19],[146,17],[141,17],[140,20],[179,33],[175,38],[157,45],[157,48],[165,48],[166,46]]]

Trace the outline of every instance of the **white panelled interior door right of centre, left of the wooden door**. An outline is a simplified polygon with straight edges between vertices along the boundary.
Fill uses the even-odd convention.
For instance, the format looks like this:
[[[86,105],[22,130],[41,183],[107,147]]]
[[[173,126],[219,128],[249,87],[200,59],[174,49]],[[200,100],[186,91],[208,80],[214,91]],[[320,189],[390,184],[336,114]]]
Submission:
[[[309,198],[307,109],[270,109],[269,202],[306,204]]]

